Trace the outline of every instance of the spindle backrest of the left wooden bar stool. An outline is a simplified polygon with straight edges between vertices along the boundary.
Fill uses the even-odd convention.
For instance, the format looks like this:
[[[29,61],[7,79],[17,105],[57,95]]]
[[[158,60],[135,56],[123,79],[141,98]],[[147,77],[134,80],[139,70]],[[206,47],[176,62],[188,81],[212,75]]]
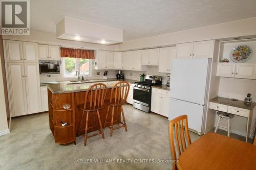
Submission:
[[[97,83],[92,85],[86,91],[86,98],[84,99],[84,109],[90,108],[91,110],[93,110],[95,108],[103,107],[106,97],[106,90],[106,85],[103,83]]]

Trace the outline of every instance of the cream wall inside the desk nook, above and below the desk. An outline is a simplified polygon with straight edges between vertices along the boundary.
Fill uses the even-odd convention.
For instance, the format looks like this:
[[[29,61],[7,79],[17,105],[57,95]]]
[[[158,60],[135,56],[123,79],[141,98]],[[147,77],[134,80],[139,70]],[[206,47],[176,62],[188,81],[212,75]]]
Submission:
[[[218,96],[223,98],[235,98],[238,100],[244,100],[247,93],[251,93],[252,100],[256,102],[256,80],[220,78]],[[256,108],[253,109],[250,132],[252,132],[255,118]],[[225,122],[222,123],[226,124]],[[231,131],[245,136],[246,118],[241,116],[234,116],[231,119]]]

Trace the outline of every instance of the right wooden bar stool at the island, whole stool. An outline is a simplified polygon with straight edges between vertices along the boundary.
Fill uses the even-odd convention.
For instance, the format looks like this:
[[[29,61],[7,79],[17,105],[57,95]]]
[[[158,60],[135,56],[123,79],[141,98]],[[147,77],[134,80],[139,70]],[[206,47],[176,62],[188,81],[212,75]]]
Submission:
[[[110,136],[112,136],[113,130],[119,129],[119,128],[122,128],[122,127],[124,127],[125,131],[127,132],[127,126],[126,126],[126,123],[125,123],[125,117],[124,117],[122,105],[127,103],[126,100],[127,100],[127,96],[128,96],[128,93],[129,93],[129,89],[130,89],[130,84],[128,82],[118,82],[111,89],[110,100],[105,101],[105,103],[109,106],[108,106],[108,111],[106,112],[104,128],[106,126],[106,119],[108,118],[110,107],[112,107]],[[120,113],[119,112],[119,113],[117,113],[117,124],[119,125],[119,123],[120,123],[120,124],[122,124],[122,126],[118,126],[118,127],[113,128],[114,109],[115,108],[119,108],[121,110],[122,117],[123,117],[123,123],[121,121],[119,121],[119,113]]]

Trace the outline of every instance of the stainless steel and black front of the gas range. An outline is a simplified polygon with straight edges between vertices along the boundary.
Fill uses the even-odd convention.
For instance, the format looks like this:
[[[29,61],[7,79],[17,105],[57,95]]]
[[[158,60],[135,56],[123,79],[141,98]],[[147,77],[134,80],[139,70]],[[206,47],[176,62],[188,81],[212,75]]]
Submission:
[[[148,113],[151,108],[151,88],[139,86],[135,85],[133,88],[133,106]]]

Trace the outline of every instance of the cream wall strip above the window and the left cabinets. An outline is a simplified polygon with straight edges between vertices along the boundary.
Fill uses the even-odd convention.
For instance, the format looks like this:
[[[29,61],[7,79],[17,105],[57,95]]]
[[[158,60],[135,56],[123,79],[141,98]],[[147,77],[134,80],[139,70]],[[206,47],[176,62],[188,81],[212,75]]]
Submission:
[[[56,34],[53,34],[53,33],[30,31],[30,35],[3,36],[3,39],[31,41],[31,42],[39,42],[39,43],[46,43],[46,44],[52,44],[52,45],[69,46],[69,47],[84,47],[92,50],[116,50],[118,48],[117,45],[101,45],[101,44],[93,44],[93,43],[86,43],[86,42],[80,42],[80,41],[62,40],[62,39],[57,39],[56,37],[57,37]]]

